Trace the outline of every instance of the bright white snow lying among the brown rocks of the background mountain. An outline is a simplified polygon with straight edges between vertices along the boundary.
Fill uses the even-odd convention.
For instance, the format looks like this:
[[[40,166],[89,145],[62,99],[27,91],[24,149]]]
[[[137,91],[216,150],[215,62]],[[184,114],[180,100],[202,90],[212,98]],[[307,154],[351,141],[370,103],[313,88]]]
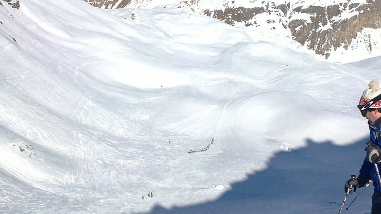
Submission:
[[[181,0],[135,0],[128,4],[129,7],[135,8],[155,8],[175,3],[183,3],[186,1]],[[299,11],[300,9],[309,8],[311,6],[322,6],[327,7],[328,5],[337,5],[341,8],[342,13],[338,16],[332,17],[331,21],[340,21],[349,19],[352,16],[358,16],[361,11],[358,11],[358,5],[367,4],[366,0],[315,0],[315,1],[300,1],[300,0],[191,0],[188,2],[192,5],[192,10],[196,13],[204,14],[205,10],[224,10],[224,8],[255,8],[255,7],[272,7],[276,5],[285,4],[289,7],[289,13],[284,15],[278,9],[275,11],[269,11],[269,13],[258,14],[251,21],[244,22],[234,22],[236,27],[245,27],[248,25],[248,28],[255,28],[257,32],[268,33],[268,34],[278,34],[280,37],[290,37],[292,34],[289,29],[285,29],[283,25],[287,25],[288,22],[302,19],[307,22],[311,22],[311,17],[314,16],[306,13],[294,13],[294,9]],[[351,9],[348,9],[348,4],[351,5]],[[117,5],[117,4],[116,4]],[[355,5],[355,6],[354,6]],[[105,7],[105,5],[104,5]],[[321,26],[319,31],[325,31],[331,29],[331,24]],[[273,31],[268,31],[272,29]],[[297,29],[296,29],[297,30]],[[357,33],[356,38],[350,41],[348,47],[339,47],[337,49],[331,49],[328,62],[332,63],[350,63],[353,61],[364,60],[367,58],[372,58],[381,55],[381,49],[378,48],[378,40],[380,37],[380,29],[370,29],[364,28],[361,32]],[[376,39],[375,39],[376,38]],[[305,43],[303,46],[308,47],[309,43]]]

